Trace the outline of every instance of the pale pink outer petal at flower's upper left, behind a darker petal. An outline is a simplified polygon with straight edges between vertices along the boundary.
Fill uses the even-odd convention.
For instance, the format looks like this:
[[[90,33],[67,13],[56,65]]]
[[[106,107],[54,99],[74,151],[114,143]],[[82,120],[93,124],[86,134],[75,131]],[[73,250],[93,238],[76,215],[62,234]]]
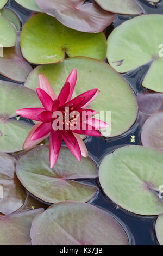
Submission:
[[[57,99],[57,95],[54,92],[53,87],[51,86],[51,84],[49,83],[47,77],[43,74],[39,74],[39,84],[40,84],[40,88],[42,90],[45,90],[45,92],[51,96],[52,100],[56,100]]]

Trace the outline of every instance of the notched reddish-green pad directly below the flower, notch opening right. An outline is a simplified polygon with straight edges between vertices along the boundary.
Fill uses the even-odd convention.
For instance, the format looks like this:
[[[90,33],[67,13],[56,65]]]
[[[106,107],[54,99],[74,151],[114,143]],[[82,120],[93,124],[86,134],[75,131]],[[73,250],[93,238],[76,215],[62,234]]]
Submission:
[[[78,162],[66,147],[61,147],[53,169],[49,165],[48,145],[29,150],[18,160],[16,174],[29,192],[49,203],[64,200],[87,202],[97,191],[96,187],[74,180],[96,178],[96,164],[90,158]]]

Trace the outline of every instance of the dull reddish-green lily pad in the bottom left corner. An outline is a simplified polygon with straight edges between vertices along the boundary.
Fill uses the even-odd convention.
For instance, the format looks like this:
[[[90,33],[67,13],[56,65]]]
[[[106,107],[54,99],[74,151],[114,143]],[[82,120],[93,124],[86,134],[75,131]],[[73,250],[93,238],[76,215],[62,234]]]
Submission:
[[[0,245],[31,245],[30,228],[43,209],[14,212],[0,217]]]

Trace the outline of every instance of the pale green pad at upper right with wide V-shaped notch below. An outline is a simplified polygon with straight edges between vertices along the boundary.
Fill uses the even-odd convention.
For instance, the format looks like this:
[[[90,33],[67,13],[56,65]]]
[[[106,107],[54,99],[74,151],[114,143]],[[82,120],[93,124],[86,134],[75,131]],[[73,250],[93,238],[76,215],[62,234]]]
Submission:
[[[135,17],[114,29],[108,38],[107,57],[118,72],[127,72],[152,62],[142,86],[163,92],[163,15]]]

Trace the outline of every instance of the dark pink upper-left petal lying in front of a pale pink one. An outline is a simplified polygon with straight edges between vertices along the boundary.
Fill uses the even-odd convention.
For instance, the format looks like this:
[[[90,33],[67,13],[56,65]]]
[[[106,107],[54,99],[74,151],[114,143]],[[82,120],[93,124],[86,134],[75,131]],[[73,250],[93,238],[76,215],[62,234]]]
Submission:
[[[45,107],[46,110],[51,111],[52,105],[53,105],[52,98],[45,92],[45,90],[36,88],[36,91],[37,91],[37,95],[39,96],[39,99],[40,99],[43,107]]]

